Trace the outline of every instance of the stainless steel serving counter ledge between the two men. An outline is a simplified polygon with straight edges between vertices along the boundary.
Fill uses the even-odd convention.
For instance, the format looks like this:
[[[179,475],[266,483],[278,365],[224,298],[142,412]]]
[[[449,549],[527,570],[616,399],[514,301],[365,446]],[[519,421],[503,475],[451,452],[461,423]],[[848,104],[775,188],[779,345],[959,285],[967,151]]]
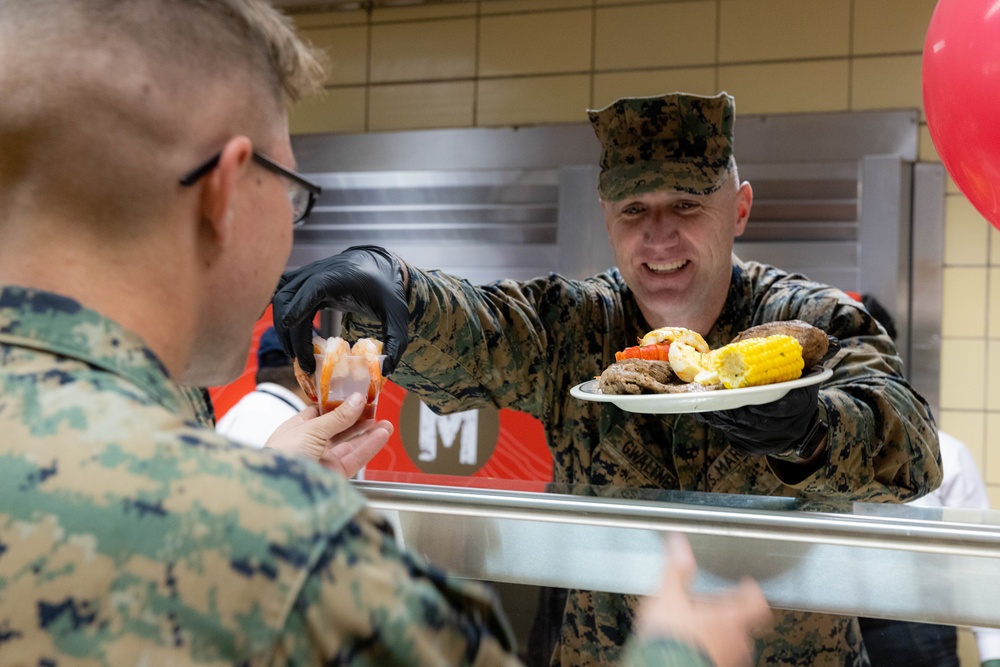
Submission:
[[[702,592],[750,576],[773,607],[1000,627],[997,511],[639,489],[355,485],[406,548],[469,578],[644,594],[658,584],[664,534],[681,532]]]

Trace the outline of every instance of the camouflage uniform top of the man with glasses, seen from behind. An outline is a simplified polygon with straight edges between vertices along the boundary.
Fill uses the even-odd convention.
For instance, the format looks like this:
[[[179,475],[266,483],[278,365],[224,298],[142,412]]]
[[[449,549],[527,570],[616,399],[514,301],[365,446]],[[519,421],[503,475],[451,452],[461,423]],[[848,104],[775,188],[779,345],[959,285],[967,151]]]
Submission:
[[[0,665],[515,662],[489,589],[192,396],[134,333],[0,289]]]

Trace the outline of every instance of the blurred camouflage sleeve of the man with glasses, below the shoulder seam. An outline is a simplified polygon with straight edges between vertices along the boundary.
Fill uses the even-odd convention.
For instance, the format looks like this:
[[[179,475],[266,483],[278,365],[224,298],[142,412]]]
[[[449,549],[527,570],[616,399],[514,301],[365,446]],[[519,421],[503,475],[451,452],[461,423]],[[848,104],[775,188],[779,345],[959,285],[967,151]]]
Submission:
[[[368,509],[326,544],[285,637],[289,664],[520,664],[491,589],[401,551]]]

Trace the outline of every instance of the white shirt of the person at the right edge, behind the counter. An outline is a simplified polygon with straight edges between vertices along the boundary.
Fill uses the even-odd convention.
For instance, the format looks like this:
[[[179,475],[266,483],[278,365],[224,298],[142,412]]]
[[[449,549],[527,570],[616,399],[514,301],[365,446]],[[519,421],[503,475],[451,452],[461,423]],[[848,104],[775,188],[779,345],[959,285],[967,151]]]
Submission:
[[[947,433],[938,431],[941,441],[941,468],[944,478],[941,486],[926,496],[910,501],[920,507],[959,507],[977,510],[990,509],[983,476],[965,444]],[[944,517],[947,518],[947,510]],[[961,517],[955,517],[961,520]],[[972,628],[979,648],[979,660],[1000,659],[1000,630]]]

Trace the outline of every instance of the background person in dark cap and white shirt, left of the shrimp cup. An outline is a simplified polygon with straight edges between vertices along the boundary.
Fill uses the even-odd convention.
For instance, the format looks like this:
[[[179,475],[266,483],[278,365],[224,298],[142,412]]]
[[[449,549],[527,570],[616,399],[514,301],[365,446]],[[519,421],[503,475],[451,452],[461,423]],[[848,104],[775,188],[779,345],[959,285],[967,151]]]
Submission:
[[[308,400],[274,327],[260,335],[255,380],[254,390],[222,415],[215,430],[234,442],[263,447],[283,422],[306,409]]]

